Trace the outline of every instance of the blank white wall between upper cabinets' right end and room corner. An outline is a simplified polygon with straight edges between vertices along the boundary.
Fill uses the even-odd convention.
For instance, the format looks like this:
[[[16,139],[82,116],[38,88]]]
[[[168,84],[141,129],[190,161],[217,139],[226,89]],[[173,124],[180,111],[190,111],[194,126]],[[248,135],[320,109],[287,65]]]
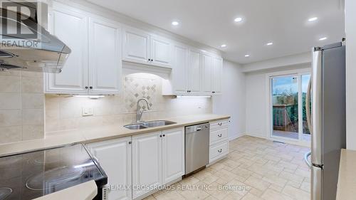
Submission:
[[[231,115],[230,140],[245,133],[245,75],[241,65],[224,60],[222,95],[213,98],[213,113]]]

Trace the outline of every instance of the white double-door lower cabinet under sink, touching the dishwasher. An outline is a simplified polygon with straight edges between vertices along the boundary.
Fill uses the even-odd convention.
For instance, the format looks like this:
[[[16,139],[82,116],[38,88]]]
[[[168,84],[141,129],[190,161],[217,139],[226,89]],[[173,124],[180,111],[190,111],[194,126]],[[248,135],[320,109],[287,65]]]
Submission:
[[[132,167],[133,199],[182,177],[184,128],[132,137]]]

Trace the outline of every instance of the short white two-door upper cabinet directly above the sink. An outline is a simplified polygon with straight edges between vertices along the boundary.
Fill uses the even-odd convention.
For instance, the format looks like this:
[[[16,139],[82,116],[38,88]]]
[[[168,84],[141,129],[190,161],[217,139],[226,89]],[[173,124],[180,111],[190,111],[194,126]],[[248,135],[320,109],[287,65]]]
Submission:
[[[170,68],[172,42],[137,28],[125,28],[123,60]]]

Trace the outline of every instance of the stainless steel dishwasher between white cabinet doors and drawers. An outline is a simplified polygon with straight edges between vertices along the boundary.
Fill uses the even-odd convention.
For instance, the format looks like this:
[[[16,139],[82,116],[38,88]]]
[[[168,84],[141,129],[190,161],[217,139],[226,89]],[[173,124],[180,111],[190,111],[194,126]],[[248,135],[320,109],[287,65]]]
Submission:
[[[209,164],[210,124],[185,127],[185,174]]]

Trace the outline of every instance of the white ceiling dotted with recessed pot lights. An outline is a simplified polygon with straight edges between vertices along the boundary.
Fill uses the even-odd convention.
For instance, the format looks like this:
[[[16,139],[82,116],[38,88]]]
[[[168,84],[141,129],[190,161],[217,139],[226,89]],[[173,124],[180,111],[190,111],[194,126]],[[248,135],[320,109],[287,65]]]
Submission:
[[[342,0],[88,1],[218,48],[237,63],[303,53],[345,35]],[[313,16],[318,20],[308,22]],[[236,17],[243,21],[234,22]],[[324,36],[328,39],[318,40]],[[266,46],[268,42],[273,45]]]

